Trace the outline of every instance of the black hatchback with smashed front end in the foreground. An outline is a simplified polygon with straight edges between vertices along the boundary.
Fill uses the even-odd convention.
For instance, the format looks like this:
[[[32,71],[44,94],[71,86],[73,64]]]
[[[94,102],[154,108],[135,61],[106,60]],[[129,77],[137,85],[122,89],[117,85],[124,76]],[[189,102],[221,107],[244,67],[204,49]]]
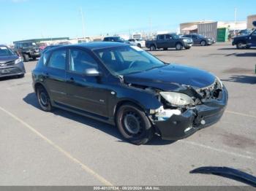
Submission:
[[[155,134],[191,136],[219,121],[228,98],[213,74],[116,42],[50,49],[32,78],[45,112],[58,107],[108,122],[133,144],[146,144]]]

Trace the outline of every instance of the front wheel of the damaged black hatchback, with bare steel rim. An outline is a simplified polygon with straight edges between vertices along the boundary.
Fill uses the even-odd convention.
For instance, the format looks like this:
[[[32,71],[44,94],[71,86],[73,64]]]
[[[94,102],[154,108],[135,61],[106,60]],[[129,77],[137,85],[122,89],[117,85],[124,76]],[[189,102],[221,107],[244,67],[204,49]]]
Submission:
[[[116,114],[119,132],[132,144],[146,144],[154,136],[154,128],[146,113],[134,104],[120,106]]]

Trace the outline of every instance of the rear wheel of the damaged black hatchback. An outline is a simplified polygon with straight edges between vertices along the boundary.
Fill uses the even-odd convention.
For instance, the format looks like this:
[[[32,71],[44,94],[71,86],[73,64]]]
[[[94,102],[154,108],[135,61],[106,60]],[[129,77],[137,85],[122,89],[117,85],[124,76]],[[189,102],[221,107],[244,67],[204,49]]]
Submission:
[[[37,101],[41,109],[45,112],[51,112],[53,107],[50,104],[50,97],[44,87],[37,87]]]

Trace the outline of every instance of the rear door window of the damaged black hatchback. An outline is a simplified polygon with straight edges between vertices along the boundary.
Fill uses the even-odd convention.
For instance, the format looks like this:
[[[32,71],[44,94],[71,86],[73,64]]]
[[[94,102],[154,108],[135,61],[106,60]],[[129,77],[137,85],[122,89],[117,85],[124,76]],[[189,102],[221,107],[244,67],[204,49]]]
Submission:
[[[62,69],[66,68],[66,50],[56,50],[50,56],[50,60],[48,62],[48,66],[54,69]]]

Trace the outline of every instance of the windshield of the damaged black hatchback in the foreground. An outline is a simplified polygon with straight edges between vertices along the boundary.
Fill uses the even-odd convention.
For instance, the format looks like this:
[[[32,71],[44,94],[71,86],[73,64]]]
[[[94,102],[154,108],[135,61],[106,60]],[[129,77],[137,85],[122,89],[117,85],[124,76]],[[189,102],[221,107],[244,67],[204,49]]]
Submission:
[[[148,52],[133,46],[94,50],[105,66],[115,75],[133,74],[165,66]]]

